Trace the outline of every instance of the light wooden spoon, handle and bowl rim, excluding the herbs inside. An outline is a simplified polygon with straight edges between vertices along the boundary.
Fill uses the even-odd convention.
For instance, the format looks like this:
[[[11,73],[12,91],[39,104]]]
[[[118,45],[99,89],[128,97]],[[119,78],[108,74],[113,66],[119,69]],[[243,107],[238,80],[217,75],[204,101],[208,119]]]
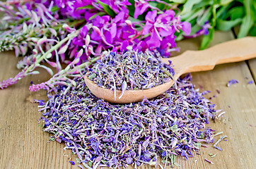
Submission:
[[[173,62],[175,70],[174,79],[178,80],[178,77],[185,73],[212,70],[218,64],[245,61],[255,57],[256,37],[244,37],[217,44],[203,51],[185,51],[180,56],[162,58],[162,61],[164,63],[168,63],[169,60]],[[93,81],[89,80],[87,75],[84,76],[84,80],[95,96],[118,104],[141,101],[144,97],[151,99],[163,94],[174,84],[173,80],[170,80],[170,82],[152,87],[151,89],[126,90],[120,99],[119,96],[122,91],[117,90],[115,99],[112,90],[99,87]]]

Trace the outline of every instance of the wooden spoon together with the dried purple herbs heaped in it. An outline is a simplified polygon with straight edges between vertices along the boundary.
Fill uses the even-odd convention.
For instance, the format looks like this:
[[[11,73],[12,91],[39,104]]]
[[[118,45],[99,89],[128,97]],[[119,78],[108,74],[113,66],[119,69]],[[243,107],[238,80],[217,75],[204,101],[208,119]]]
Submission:
[[[255,58],[255,44],[256,37],[245,37],[203,51],[185,51],[173,58],[161,58],[158,52],[149,51],[107,52],[88,70],[84,80],[98,98],[118,104],[137,102],[163,94],[182,74]]]

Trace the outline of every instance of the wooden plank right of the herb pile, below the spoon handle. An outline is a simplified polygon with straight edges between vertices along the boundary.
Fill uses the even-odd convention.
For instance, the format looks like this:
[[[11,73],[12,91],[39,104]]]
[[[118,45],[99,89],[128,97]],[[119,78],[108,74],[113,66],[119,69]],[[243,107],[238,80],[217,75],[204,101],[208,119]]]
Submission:
[[[256,165],[256,161],[251,160],[255,157],[256,151],[256,87],[255,84],[247,84],[245,79],[251,77],[248,66],[244,62],[225,64],[216,66],[213,71],[193,75],[192,82],[212,91],[208,97],[211,96],[213,103],[226,111],[223,123],[209,125],[217,132],[223,131],[223,134],[228,136],[228,142],[220,143],[223,151],[205,149],[205,158],[209,153],[218,154],[212,159],[215,165],[211,168],[253,168]],[[231,79],[239,80],[240,83],[226,87],[228,80]],[[221,93],[218,94],[216,89]]]

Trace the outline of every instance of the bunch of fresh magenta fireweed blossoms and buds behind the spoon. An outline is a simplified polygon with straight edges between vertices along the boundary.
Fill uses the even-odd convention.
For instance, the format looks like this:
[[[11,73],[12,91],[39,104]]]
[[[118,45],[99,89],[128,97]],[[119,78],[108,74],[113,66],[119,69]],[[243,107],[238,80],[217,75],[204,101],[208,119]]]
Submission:
[[[13,78],[11,81],[16,83],[17,79],[28,75],[26,73],[34,70],[38,64],[52,74],[52,69],[42,65],[41,62],[49,63],[59,72],[62,70],[61,63],[69,64],[74,61],[81,49],[84,53],[79,57],[80,60],[76,65],[88,61],[89,57],[101,56],[103,51],[124,51],[127,46],[132,46],[132,49],[138,51],[157,50],[161,56],[168,56],[170,51],[178,50],[174,33],[180,30],[186,34],[190,32],[190,24],[181,22],[180,16],[176,16],[171,9],[161,12],[158,8],[149,6],[146,9],[151,11],[146,11],[145,8],[140,11],[141,14],[144,13],[145,20],[138,21],[130,17],[127,7],[130,3],[127,1],[114,3],[117,8],[111,5],[107,8],[104,3],[103,1],[0,3],[6,11],[4,20],[8,25],[6,26],[8,29],[0,37],[4,39],[2,49],[6,50],[8,49],[6,46],[13,46],[16,55],[25,56],[18,63],[18,68],[23,68],[23,75],[18,75],[18,78]],[[9,4],[14,4],[16,10],[13,10]],[[115,8],[114,12],[112,8]],[[134,15],[137,14],[138,11],[134,12]],[[78,34],[59,45],[59,42],[72,32]],[[13,34],[16,39],[12,39]],[[38,57],[34,57],[32,51]],[[45,51],[51,51],[51,55],[45,56]],[[44,57],[40,59],[39,56]],[[35,62],[37,64],[34,64]],[[29,68],[29,65],[33,65],[34,68]],[[0,86],[4,88],[10,84],[12,83],[3,81]]]

